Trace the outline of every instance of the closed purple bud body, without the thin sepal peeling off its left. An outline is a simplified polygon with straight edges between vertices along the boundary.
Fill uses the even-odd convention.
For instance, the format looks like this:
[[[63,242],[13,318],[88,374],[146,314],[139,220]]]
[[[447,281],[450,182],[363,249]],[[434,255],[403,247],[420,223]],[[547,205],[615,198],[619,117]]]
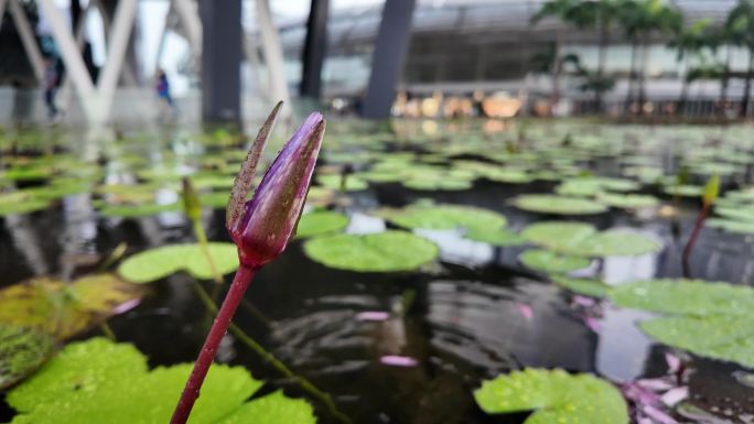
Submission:
[[[228,231],[240,263],[259,268],[276,259],[293,235],[320,153],[325,120],[313,112],[286,143]],[[229,210],[230,213],[230,210]]]

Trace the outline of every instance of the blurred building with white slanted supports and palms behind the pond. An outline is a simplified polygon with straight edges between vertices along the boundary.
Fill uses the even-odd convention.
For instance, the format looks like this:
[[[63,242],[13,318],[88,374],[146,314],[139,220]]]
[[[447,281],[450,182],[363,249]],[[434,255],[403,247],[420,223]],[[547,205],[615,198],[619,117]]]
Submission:
[[[107,119],[116,121],[159,112],[147,101],[159,69],[184,120],[233,120],[288,97],[367,117],[751,112],[751,0],[230,1],[237,12],[208,0],[0,0],[0,120],[44,119],[46,58],[61,75],[66,119],[87,120],[86,83],[72,78],[47,14],[54,8],[65,19],[79,73],[97,86],[130,3],[122,58],[114,55],[120,69]],[[239,35],[228,35],[235,25]],[[380,36],[387,47],[376,53]],[[228,69],[238,73],[229,89],[240,93],[238,116],[217,106],[236,79]]]

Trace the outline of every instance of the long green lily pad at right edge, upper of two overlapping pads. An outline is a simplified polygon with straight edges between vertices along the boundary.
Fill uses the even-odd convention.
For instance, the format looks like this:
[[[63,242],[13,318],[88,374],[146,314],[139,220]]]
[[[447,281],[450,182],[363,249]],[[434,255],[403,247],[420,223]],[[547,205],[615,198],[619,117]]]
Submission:
[[[701,280],[651,280],[614,287],[618,306],[666,314],[747,315],[754,311],[754,289]]]

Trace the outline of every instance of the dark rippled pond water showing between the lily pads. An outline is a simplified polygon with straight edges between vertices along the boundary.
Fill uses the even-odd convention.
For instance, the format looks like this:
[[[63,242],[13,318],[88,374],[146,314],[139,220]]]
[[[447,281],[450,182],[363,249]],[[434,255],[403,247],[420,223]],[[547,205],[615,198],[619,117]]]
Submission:
[[[398,184],[376,184],[353,194],[348,231],[380,228],[363,214],[377,205],[399,206],[429,197],[439,203],[498,210],[509,228],[520,229],[547,217],[517,210],[507,200],[520,193],[550,192],[552,184],[507,185],[476,182],[464,192],[413,192]],[[150,247],[193,241],[180,214],[138,219],[98,217],[89,194],[66,197],[56,207],[0,218],[0,285],[34,275],[75,278],[90,271],[94,259],[126,241],[129,254]],[[639,220],[612,210],[586,220],[600,228],[631,226],[664,242],[657,254],[614,258],[595,263],[593,272],[618,283],[655,276],[680,276],[680,250],[698,205],[687,202],[681,237],[674,239],[668,220]],[[211,240],[229,240],[224,213],[205,210]],[[489,416],[475,405],[472,392],[484,379],[523,367],[594,372],[613,381],[657,377],[666,372],[666,347],[635,326],[649,314],[605,305],[599,328],[584,322],[571,295],[526,271],[516,257],[523,248],[493,248],[452,231],[428,237],[442,250],[441,261],[418,273],[362,274],[327,269],[309,260],[294,241],[276,262],[262,269],[246,298],[268,319],[241,308],[236,323],[297,372],[331,393],[338,407],[358,424],[520,423],[526,414]],[[694,278],[754,284],[751,238],[707,229],[692,260]],[[226,276],[229,282],[231,275]],[[412,298],[403,313],[381,322],[358,319],[363,312],[394,312]],[[529,305],[527,319],[519,306]],[[119,341],[134,344],[152,366],[192,361],[207,330],[207,317],[191,289],[191,278],[176,274],[151,285],[134,309],[109,325]],[[96,336],[93,330],[80,338]],[[387,355],[417,359],[414,367],[383,365]],[[218,360],[266,379],[267,391],[283,388],[305,396],[231,336]],[[747,423],[754,414],[754,389],[740,383],[741,367],[692,358],[691,401],[714,411],[720,423]],[[745,371],[745,370],[743,370]],[[321,423],[335,421],[315,403]],[[12,411],[0,406],[0,421]],[[554,424],[554,423],[553,423]],[[594,424],[594,423],[590,423]]]

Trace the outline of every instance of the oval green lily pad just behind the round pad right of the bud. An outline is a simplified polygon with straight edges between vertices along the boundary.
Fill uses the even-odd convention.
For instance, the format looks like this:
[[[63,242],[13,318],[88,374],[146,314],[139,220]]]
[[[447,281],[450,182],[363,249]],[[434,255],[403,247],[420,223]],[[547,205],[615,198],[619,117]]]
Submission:
[[[507,224],[505,216],[494,210],[459,205],[410,205],[402,209],[387,210],[384,216],[395,225],[411,229],[496,230]]]

